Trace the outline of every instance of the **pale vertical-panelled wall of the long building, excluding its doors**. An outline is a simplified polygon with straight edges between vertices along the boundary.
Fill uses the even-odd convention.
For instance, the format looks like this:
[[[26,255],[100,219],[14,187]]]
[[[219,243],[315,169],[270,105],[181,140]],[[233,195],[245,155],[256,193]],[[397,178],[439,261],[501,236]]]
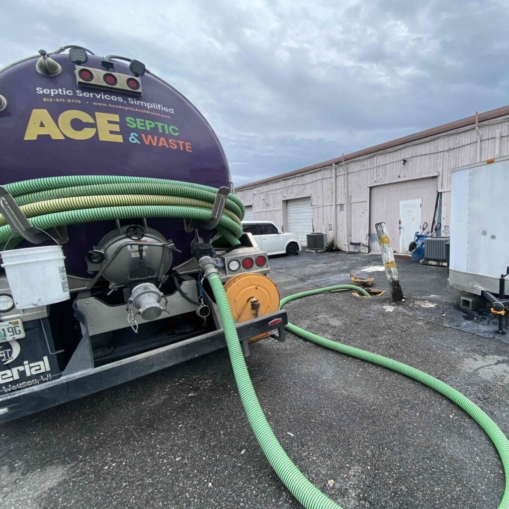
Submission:
[[[499,132],[498,140],[497,131]],[[509,155],[508,131],[507,117],[480,123],[479,160],[495,157],[498,146],[500,157]],[[412,182],[409,179],[435,175],[437,178],[431,179],[435,180],[434,192],[440,192],[442,197],[441,233],[448,235],[451,228],[450,173],[454,168],[477,162],[477,139],[475,127],[468,126],[394,147],[385,152],[376,152],[352,159],[344,165],[327,166],[257,187],[241,189],[237,195],[244,204],[253,206],[255,219],[272,220],[282,229],[285,228],[286,223],[284,202],[311,196],[315,232],[326,233],[328,241],[335,240],[337,247],[341,249],[367,252],[369,239],[373,238],[370,234],[376,233],[373,229],[374,220],[370,220],[370,215],[380,218],[383,215],[382,211],[378,210],[378,205],[373,205],[376,210],[370,207],[370,189],[379,187],[376,184],[390,186],[395,182]],[[403,159],[406,160],[405,164]],[[336,174],[335,207],[333,204],[334,172]],[[411,185],[413,191],[421,194],[431,192],[426,190],[428,183],[420,188],[421,184],[415,183],[418,181],[413,182],[414,184]],[[391,188],[386,187],[386,189]],[[372,192],[378,193],[378,191]],[[423,207],[425,207],[424,200]],[[397,229],[399,218],[388,211],[386,214],[388,217],[380,220],[387,223],[389,232],[394,228]],[[426,217],[430,213],[423,210],[422,214],[422,220],[429,222]],[[329,224],[332,227],[331,230],[329,230]],[[377,246],[373,245],[373,247]],[[393,248],[397,249],[398,243]],[[377,252],[376,249],[375,252]]]

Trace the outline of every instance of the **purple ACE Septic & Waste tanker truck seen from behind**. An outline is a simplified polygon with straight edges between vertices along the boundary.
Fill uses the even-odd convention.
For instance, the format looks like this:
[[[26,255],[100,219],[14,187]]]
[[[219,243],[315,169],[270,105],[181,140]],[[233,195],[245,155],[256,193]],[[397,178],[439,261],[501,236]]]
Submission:
[[[267,253],[250,234],[242,233],[242,204],[228,195],[233,186],[217,136],[182,94],[143,63],[118,55],[100,58],[86,48],[64,46],[53,53],[41,50],[0,70],[0,153],[0,233],[2,238],[18,234],[13,245],[11,236],[0,246],[0,266],[5,268],[0,268],[0,422],[225,347],[197,253],[214,257],[223,282],[245,276],[245,283],[227,291],[232,301],[232,292],[248,291],[251,296],[246,305],[253,304],[253,318],[237,324],[245,355],[250,337],[277,328],[284,338],[286,312],[277,305],[254,305],[260,300],[263,304],[260,288],[269,283],[275,296],[271,301],[277,304],[277,289],[265,277]],[[149,197],[155,202],[175,198],[182,209],[187,196],[182,187],[192,184],[198,189],[193,195],[198,199],[191,204],[197,212],[191,220],[174,212],[172,217],[118,217],[120,207],[111,205],[111,196],[124,201],[134,196],[117,187],[104,191],[97,181],[105,176],[114,176],[116,183],[104,185],[119,188],[125,179],[131,185],[140,177],[178,181],[162,183],[176,186],[174,194],[158,194],[152,188]],[[34,183],[19,184],[47,177],[69,178],[61,179],[58,188],[45,187],[50,186],[47,182],[56,186],[54,179],[43,181],[42,189]],[[24,189],[20,194],[11,193],[19,186]],[[208,187],[200,194],[203,186]],[[55,199],[54,191],[63,194]],[[58,214],[67,218],[79,212],[88,219],[76,221],[74,215],[48,231],[62,245],[63,253],[56,248],[61,258],[57,278],[62,278],[65,296],[21,306],[6,260],[25,253],[25,248],[36,252],[34,243],[41,243],[41,235],[41,246],[55,250],[55,239],[46,241],[36,224],[42,224],[37,223],[41,217],[50,221],[53,202],[62,207],[68,196],[75,202]],[[99,210],[91,205],[96,199],[99,204],[105,200],[115,214],[102,220],[91,213]],[[163,206],[169,209],[172,203],[166,200]],[[26,217],[25,206],[35,207]],[[220,227],[219,220],[230,224],[235,238],[224,237],[228,228]],[[213,248],[216,228],[228,242]],[[250,263],[245,263],[248,258]],[[21,287],[31,288],[32,293],[25,294],[37,301],[37,277],[26,274]]]

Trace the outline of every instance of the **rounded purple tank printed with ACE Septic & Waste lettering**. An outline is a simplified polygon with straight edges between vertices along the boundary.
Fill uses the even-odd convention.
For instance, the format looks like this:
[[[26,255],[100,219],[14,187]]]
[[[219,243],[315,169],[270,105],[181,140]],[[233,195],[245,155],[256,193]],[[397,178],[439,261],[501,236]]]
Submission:
[[[0,112],[1,184],[59,175],[127,175],[230,186],[217,136],[171,86],[149,73],[134,77],[123,62],[111,61],[114,69],[105,70],[99,56],[89,55],[81,66],[109,87],[92,88],[81,79],[89,78],[87,73],[77,84],[77,68],[69,55],[50,58],[62,66],[59,75],[37,72],[37,58],[0,73],[0,95],[7,99]],[[120,84],[129,85],[129,79],[119,75],[137,80],[142,95],[136,95],[135,81],[129,92],[119,89]],[[183,231],[183,221],[149,218],[149,226],[183,251],[175,253],[174,265],[189,258],[192,234]],[[68,227],[64,252],[70,274],[88,276],[87,251],[114,227],[112,221]],[[201,235],[210,238],[211,233]]]

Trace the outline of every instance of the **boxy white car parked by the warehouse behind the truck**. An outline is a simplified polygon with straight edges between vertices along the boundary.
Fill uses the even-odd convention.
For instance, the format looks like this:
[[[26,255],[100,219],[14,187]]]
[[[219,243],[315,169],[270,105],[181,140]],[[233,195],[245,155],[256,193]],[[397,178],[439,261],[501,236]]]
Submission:
[[[282,233],[272,221],[242,221],[244,233],[250,233],[267,254],[299,254],[302,249],[296,233]]]

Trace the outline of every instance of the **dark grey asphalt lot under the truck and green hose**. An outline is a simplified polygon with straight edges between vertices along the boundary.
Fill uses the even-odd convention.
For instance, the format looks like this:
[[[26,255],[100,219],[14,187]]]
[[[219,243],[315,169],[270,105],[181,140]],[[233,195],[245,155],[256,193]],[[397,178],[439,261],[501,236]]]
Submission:
[[[281,296],[351,272],[388,289],[378,256],[300,253],[270,265]],[[328,293],[289,303],[289,319],[444,380],[507,434],[509,345],[495,323],[457,309],[446,269],[398,268],[403,304]],[[251,344],[247,363],[287,453],[345,509],[498,506],[496,449],[431,389],[289,333]],[[0,438],[5,509],[300,507],[253,437],[225,350],[7,423]]]

